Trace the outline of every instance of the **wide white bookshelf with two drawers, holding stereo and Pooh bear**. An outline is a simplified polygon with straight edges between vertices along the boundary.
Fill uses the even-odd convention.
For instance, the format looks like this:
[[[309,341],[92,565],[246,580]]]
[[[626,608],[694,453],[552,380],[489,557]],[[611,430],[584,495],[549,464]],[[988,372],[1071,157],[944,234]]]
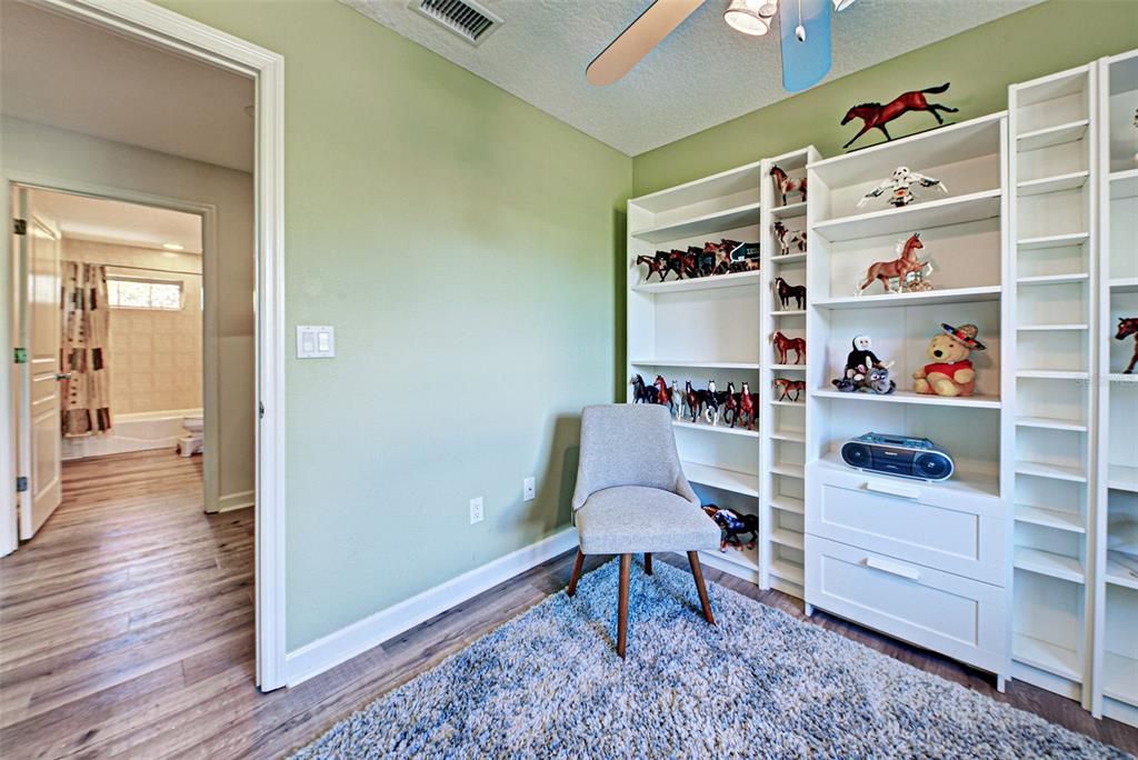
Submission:
[[[811,162],[808,212],[806,602],[964,662],[1007,674],[1011,484],[1000,471],[1013,430],[1006,367],[1015,340],[1005,303],[1006,118],[1004,114]],[[941,180],[893,208],[857,203],[898,166]],[[933,265],[934,290],[857,286],[875,262],[897,258],[915,232]],[[914,391],[941,323],[975,324],[976,391]],[[894,362],[892,395],[843,393],[855,336]],[[953,452],[941,484],[847,466],[839,449],[864,432],[931,438]],[[902,601],[905,600],[905,601]],[[809,610],[809,606],[808,606]]]

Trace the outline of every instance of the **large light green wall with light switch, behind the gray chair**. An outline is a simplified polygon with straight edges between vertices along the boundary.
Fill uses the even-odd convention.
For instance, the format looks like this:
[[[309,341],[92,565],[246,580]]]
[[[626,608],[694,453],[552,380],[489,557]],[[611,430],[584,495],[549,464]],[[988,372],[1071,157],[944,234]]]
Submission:
[[[336,2],[162,5],[286,59],[289,649],[568,526],[632,159]]]

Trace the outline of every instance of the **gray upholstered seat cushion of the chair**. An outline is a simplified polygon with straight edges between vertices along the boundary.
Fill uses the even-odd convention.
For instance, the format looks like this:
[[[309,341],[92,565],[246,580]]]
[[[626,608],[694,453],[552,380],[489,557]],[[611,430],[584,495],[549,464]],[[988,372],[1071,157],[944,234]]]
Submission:
[[[718,548],[719,526],[685,498],[659,488],[619,486],[591,495],[577,511],[585,554]]]

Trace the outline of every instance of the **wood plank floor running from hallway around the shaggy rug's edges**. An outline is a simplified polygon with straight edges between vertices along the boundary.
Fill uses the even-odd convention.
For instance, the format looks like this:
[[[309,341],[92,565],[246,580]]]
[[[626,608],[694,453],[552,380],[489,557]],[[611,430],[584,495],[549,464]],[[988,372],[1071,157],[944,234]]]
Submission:
[[[566,586],[572,553],[291,689],[253,685],[253,512],[201,512],[200,460],[130,454],[65,466],[64,504],[0,560],[0,757],[275,758]],[[686,567],[682,557],[661,557]],[[591,559],[586,570],[601,563]],[[798,600],[704,570],[803,618]],[[615,592],[613,592],[615,593]],[[1138,753],[1094,720],[824,613],[811,622]]]

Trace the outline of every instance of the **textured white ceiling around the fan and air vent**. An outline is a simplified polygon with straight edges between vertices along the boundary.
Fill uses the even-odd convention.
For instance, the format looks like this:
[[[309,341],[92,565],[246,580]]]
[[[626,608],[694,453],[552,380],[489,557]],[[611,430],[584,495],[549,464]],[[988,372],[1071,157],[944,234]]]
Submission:
[[[858,0],[834,17],[826,79],[1039,1]],[[585,67],[649,0],[480,0],[505,23],[478,48],[417,14],[407,0],[340,2],[629,156],[789,97],[777,36],[733,32],[723,20],[727,0],[708,0],[607,88],[587,84]]]

